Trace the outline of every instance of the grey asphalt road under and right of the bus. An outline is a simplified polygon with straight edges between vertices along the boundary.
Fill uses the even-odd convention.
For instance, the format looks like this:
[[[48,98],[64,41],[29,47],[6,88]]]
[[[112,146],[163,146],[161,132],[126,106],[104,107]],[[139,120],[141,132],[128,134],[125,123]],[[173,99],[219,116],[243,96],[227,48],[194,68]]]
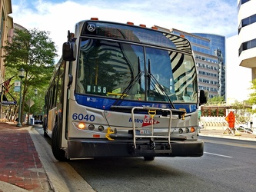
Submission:
[[[98,191],[255,191],[256,142],[215,137],[203,157],[88,159],[68,164]]]

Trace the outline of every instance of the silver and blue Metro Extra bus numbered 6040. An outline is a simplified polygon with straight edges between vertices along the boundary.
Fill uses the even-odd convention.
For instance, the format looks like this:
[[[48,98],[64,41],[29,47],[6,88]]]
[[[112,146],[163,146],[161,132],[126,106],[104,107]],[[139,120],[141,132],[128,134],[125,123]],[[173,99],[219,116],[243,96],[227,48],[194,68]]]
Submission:
[[[201,157],[200,91],[190,42],[91,18],[68,31],[45,95],[45,137],[58,161]]]

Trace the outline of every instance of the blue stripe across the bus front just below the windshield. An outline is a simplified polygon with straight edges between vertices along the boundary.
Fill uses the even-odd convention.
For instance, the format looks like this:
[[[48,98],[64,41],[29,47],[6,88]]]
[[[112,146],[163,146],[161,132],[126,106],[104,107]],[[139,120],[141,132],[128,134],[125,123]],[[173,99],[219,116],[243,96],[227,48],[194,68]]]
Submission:
[[[94,96],[87,96],[81,94],[75,94],[75,100],[78,104],[88,106],[90,108],[98,108],[104,110],[110,110],[111,105],[115,103],[115,98],[99,98]],[[170,104],[159,104],[151,102],[141,102],[141,101],[121,101],[120,106],[134,106],[134,107],[152,107],[152,108],[171,108]],[[197,104],[175,104],[175,108],[185,108],[187,113],[191,113],[197,110]]]

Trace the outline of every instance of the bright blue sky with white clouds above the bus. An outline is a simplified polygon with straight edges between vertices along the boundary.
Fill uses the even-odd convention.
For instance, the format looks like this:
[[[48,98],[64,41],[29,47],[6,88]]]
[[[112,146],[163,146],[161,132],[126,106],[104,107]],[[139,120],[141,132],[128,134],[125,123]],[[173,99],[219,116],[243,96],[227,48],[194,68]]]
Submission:
[[[49,31],[61,56],[75,23],[92,17],[158,25],[230,37],[238,33],[237,0],[12,0],[12,18],[27,29]]]

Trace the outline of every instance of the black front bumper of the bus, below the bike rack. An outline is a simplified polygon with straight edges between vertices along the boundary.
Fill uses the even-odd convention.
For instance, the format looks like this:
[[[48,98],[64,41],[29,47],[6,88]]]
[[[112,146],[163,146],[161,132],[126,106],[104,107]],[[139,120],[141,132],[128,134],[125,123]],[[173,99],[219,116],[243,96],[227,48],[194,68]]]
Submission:
[[[201,157],[204,154],[203,141],[155,141],[155,147],[148,140],[137,140],[136,148],[131,140],[108,141],[105,139],[71,139],[66,156],[87,157]]]

